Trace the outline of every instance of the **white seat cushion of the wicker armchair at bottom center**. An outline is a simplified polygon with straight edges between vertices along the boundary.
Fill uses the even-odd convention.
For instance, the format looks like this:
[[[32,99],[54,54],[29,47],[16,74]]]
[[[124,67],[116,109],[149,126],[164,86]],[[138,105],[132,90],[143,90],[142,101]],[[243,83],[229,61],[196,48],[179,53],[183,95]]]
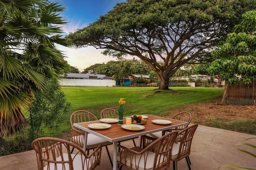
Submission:
[[[136,150],[140,152],[142,149],[138,149],[138,147],[132,148],[133,150]],[[154,158],[155,153],[146,151],[143,154],[133,154],[132,152],[128,152],[127,150],[124,150],[122,152],[117,153],[117,160],[120,160],[121,156],[121,163],[126,164],[128,166],[132,166],[132,168],[136,170],[152,170],[153,164],[154,164]],[[126,162],[125,162],[126,158]],[[161,158],[158,158],[158,161],[167,160],[164,158],[164,156],[161,156]],[[132,163],[132,165],[131,165]],[[158,163],[157,163],[158,164]]]

